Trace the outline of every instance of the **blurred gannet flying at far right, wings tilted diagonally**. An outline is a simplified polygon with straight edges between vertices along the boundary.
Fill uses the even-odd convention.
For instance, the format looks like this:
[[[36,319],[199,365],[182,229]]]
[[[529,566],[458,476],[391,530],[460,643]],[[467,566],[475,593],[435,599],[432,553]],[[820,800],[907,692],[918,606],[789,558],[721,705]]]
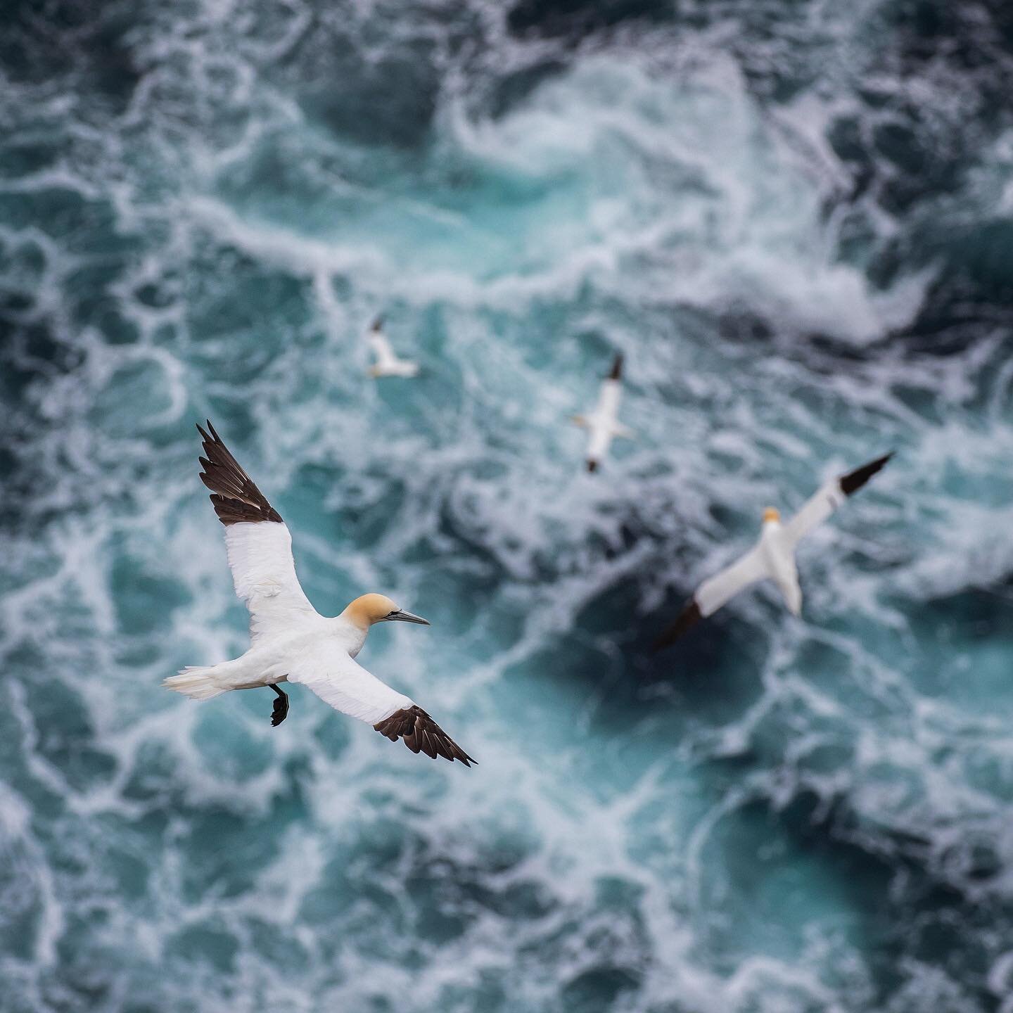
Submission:
[[[738,592],[757,580],[770,578],[784,596],[788,611],[797,616],[802,608],[802,592],[795,569],[795,547],[813,528],[823,524],[853,492],[860,489],[886,462],[892,453],[878,457],[840,478],[825,482],[802,509],[785,525],[781,515],[768,506],[757,544],[736,562],[697,588],[689,605],[654,641],[660,650],[679,639],[704,616],[716,612]]]

